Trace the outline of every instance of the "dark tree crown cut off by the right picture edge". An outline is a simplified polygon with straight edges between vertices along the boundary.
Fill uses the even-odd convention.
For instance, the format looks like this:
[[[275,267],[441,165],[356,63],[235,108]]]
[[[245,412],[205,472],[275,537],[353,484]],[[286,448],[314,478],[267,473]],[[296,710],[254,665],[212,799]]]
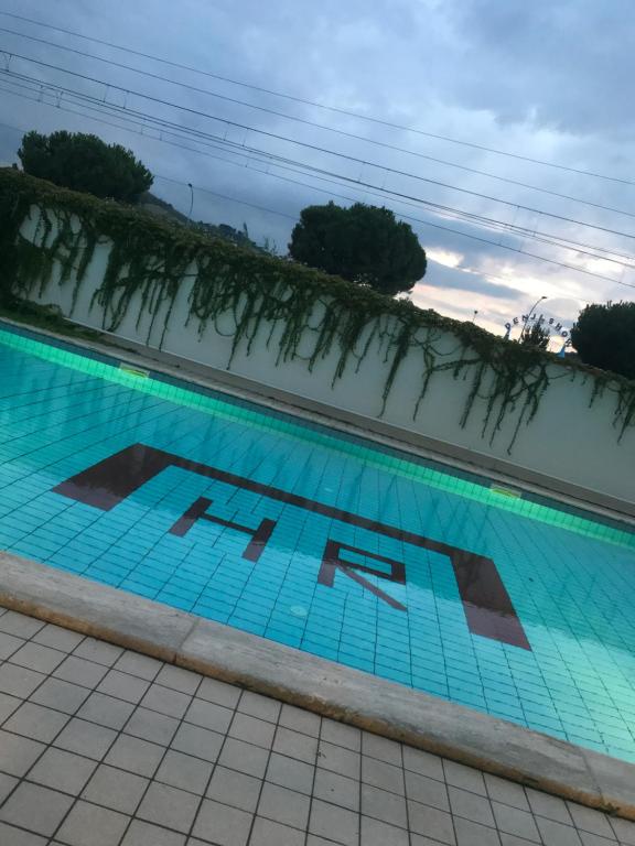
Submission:
[[[571,341],[584,364],[635,379],[635,303],[588,305]]]

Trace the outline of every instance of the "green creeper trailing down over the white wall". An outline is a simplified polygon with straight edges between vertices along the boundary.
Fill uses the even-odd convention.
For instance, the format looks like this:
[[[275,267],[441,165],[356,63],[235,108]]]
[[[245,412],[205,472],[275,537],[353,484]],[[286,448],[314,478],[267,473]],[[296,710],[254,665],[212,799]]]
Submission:
[[[239,349],[249,354],[259,333],[267,333],[265,340],[270,346],[278,332],[278,362],[301,358],[311,370],[335,350],[335,382],[347,367],[358,369],[372,345],[378,344],[388,366],[384,411],[405,358],[419,354],[421,383],[413,417],[434,375],[449,371],[465,382],[461,425],[466,425],[475,409],[481,410],[482,435],[492,442],[510,419],[514,432],[508,452],[520,426],[536,415],[553,379],[592,379],[591,404],[606,391],[613,392],[618,437],[635,424],[633,381],[117,203],[0,170],[0,285],[4,285],[4,297],[42,294],[55,278],[61,285],[73,285],[75,303],[100,243],[111,247],[93,305],[101,310],[103,327],[108,332],[117,330],[133,297],[140,295],[141,307],[134,305],[137,326],[149,315],[150,337],[161,314],[161,344],[176,295],[190,282],[187,323],[194,323],[201,336],[208,324],[229,334],[232,358]],[[448,350],[448,333],[456,341],[452,351]]]

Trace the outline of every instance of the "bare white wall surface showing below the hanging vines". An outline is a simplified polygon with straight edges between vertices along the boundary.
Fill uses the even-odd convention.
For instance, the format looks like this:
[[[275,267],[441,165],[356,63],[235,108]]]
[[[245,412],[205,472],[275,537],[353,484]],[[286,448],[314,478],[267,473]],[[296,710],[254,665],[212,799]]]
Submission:
[[[25,237],[33,237],[34,223],[23,227]],[[109,245],[97,247],[94,259],[83,281],[75,310],[71,314],[74,280],[63,288],[57,284],[58,274],[41,296],[33,292],[32,299],[42,304],[53,304],[62,313],[86,326],[103,328],[103,313],[90,307],[95,290],[101,283],[108,258]],[[198,337],[197,321],[184,328],[187,317],[187,295],[191,280],[185,279],[177,295],[162,349],[165,352],[224,370],[228,366],[233,322],[227,315],[220,321],[220,333],[212,324]],[[140,295],[136,294],[121,325],[116,330],[120,338],[146,343],[150,316],[142,315],[139,327]],[[163,329],[163,316],[159,314],[150,336],[149,346],[157,348]],[[269,348],[265,340],[269,326],[262,326],[258,341],[250,356],[240,347],[232,362],[230,370],[237,376],[254,380],[261,386],[283,390],[299,398],[323,403],[334,409],[379,420],[381,391],[386,382],[389,364],[384,361],[384,350],[374,341],[368,355],[355,372],[351,360],[342,379],[332,387],[337,360],[337,350],[315,364],[310,373],[303,360],[295,359],[276,366],[279,327]],[[435,344],[438,355],[453,360],[459,351],[459,339],[450,333],[439,333]],[[306,339],[306,349],[310,339]],[[302,350],[300,350],[302,351]],[[617,442],[618,430],[613,426],[616,395],[606,391],[592,408],[589,408],[593,391],[593,379],[581,375],[572,378],[571,370],[552,365],[549,368],[550,384],[543,394],[537,415],[531,423],[523,425],[512,454],[507,448],[513,438],[515,414],[506,416],[493,444],[488,434],[482,436],[482,424],[486,403],[477,399],[467,425],[460,426],[461,414],[471,386],[471,373],[454,379],[451,371],[435,373],[428,393],[421,403],[417,419],[412,419],[423,376],[423,360],[419,349],[413,349],[402,361],[392,390],[381,416],[386,424],[409,434],[418,434],[439,443],[443,452],[469,451],[472,460],[482,466],[506,463],[506,469],[517,471],[519,477],[530,478],[534,474],[560,480],[567,486],[578,486],[589,492],[589,499],[601,501],[603,497],[615,498],[625,503],[625,510],[635,511],[635,427],[631,427]],[[489,432],[489,430],[488,430]],[[502,465],[501,465],[502,466]],[[562,485],[559,485],[562,488]]]

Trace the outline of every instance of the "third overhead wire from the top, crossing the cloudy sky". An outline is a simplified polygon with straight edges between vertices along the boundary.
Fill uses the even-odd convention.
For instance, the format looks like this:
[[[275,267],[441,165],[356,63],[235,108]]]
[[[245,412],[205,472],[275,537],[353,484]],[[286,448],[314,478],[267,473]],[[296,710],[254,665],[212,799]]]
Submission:
[[[462,188],[462,187],[459,187],[456,185],[451,185],[449,183],[441,182],[439,180],[431,180],[431,178],[429,178],[427,176],[421,176],[419,174],[409,173],[408,171],[401,171],[401,170],[399,170],[397,167],[390,167],[389,165],[385,165],[385,164],[381,164],[381,163],[378,163],[378,162],[368,161],[366,159],[360,159],[358,156],[351,155],[348,153],[341,153],[341,152],[337,152],[335,150],[330,150],[329,148],[320,147],[319,144],[311,144],[311,143],[309,143],[306,141],[300,141],[298,139],[290,138],[288,135],[282,135],[282,134],[279,134],[277,132],[270,132],[270,131],[267,131],[267,130],[263,130],[263,129],[258,129],[257,127],[251,127],[251,126],[248,126],[248,124],[245,124],[245,123],[240,123],[238,121],[229,120],[227,118],[222,118],[222,117],[219,117],[217,115],[212,115],[209,112],[202,111],[201,109],[194,109],[194,108],[191,108],[189,106],[182,106],[181,104],[172,102],[170,100],[164,100],[161,97],[155,97],[153,95],[143,94],[141,91],[136,91],[136,90],[132,90],[131,88],[127,88],[127,87],[123,87],[123,86],[120,86],[120,85],[115,85],[114,83],[108,83],[108,82],[106,82],[104,79],[98,79],[98,78],[89,76],[87,74],[79,74],[79,73],[77,73],[75,70],[69,70],[68,68],[60,67],[58,65],[54,65],[54,64],[49,63],[49,62],[43,62],[43,61],[37,59],[37,58],[32,58],[30,56],[24,56],[24,55],[21,55],[19,53],[14,53],[12,51],[3,50],[3,52],[6,52],[7,54],[9,54],[9,55],[11,55],[11,56],[13,56],[15,58],[22,59],[24,62],[30,62],[32,64],[39,65],[41,67],[45,67],[47,69],[56,70],[56,72],[66,74],[68,76],[74,76],[76,78],[83,79],[84,82],[89,82],[89,83],[92,83],[94,85],[96,84],[96,85],[104,86],[106,89],[112,89],[112,90],[120,91],[121,94],[125,94],[125,95],[131,95],[131,96],[134,96],[134,97],[139,97],[141,99],[149,100],[151,102],[155,102],[155,104],[159,104],[161,106],[168,106],[169,108],[173,108],[173,109],[176,109],[179,111],[184,111],[184,112],[190,113],[190,115],[195,115],[198,118],[205,118],[207,120],[213,120],[213,121],[216,121],[216,122],[219,122],[219,123],[224,123],[225,126],[234,127],[234,128],[244,130],[246,132],[254,132],[255,134],[260,134],[260,135],[263,135],[266,138],[273,139],[275,141],[282,141],[282,142],[286,142],[286,143],[291,143],[291,144],[293,144],[295,147],[301,147],[301,148],[311,150],[313,152],[319,152],[319,153],[332,155],[332,156],[335,156],[335,158],[338,158],[338,159],[344,159],[344,160],[346,160],[348,162],[352,162],[354,164],[360,165],[363,167],[364,166],[376,167],[377,170],[384,171],[386,173],[390,173],[390,174],[392,174],[395,176],[401,176],[401,177],[406,177],[406,178],[416,180],[418,182],[423,182],[426,184],[435,185],[437,187],[441,187],[441,188],[444,188],[444,189],[448,189],[448,191],[454,191],[454,192],[459,192],[461,194],[465,194],[465,195],[469,195],[469,196],[477,197],[480,199],[486,199],[486,200],[489,200],[489,202],[493,202],[493,203],[498,203],[498,204],[505,205],[507,207],[521,208],[525,212],[530,212],[532,214],[543,215],[545,217],[550,217],[550,218],[552,218],[555,220],[562,220],[562,221],[566,221],[566,223],[574,224],[575,226],[584,226],[584,227],[588,227],[588,228],[591,228],[591,229],[595,229],[598,231],[610,232],[612,235],[617,235],[617,236],[623,237],[623,238],[635,239],[635,235],[632,235],[629,232],[617,231],[617,230],[611,229],[609,227],[602,227],[602,226],[599,226],[596,224],[589,224],[589,223],[586,223],[584,220],[578,220],[575,218],[567,217],[566,215],[557,215],[553,212],[546,212],[545,209],[534,208],[532,206],[526,206],[524,204],[514,203],[512,200],[502,199],[499,197],[493,197],[493,196],[491,196],[488,194],[483,194],[481,192],[471,191],[469,188]],[[22,78],[30,78],[28,76],[15,74],[14,72],[10,72],[10,70],[4,70],[3,73],[8,74],[8,75],[17,76],[19,78],[20,77],[22,77]],[[31,77],[31,79],[34,80],[32,77]],[[42,79],[34,80],[34,82],[39,82],[42,85],[49,85],[49,86],[52,85],[50,82],[42,80]],[[65,89],[63,86],[60,86],[57,84],[54,84],[54,85],[57,88],[60,88],[61,90],[69,90],[69,93],[77,94],[76,91],[73,91],[72,89]],[[263,151],[260,151],[260,152],[263,152]],[[395,192],[391,192],[391,193],[395,193]]]

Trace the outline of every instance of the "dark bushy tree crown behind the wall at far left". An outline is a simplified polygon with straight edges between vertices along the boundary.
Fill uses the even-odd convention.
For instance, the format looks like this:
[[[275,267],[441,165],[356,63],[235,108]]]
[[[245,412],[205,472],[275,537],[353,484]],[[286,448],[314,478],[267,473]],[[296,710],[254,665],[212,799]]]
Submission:
[[[126,203],[136,203],[153,182],[130,150],[83,132],[28,132],[18,158],[31,176]]]

